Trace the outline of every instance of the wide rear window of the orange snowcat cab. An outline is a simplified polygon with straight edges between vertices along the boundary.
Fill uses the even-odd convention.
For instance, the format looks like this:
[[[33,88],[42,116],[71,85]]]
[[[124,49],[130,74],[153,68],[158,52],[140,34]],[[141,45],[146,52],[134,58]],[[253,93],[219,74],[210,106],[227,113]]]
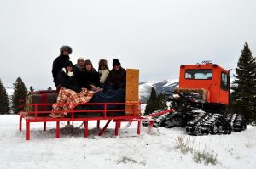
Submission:
[[[212,79],[212,70],[189,69],[185,71],[186,79]]]

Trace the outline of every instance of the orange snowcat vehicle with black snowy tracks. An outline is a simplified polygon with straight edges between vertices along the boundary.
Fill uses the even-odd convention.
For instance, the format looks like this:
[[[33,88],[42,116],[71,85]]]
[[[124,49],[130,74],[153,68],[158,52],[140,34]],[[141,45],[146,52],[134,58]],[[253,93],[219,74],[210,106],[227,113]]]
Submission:
[[[165,98],[176,111],[155,118],[154,127],[186,127],[190,135],[230,134],[246,129],[243,115],[227,114],[230,70],[211,61],[181,65],[179,87]]]

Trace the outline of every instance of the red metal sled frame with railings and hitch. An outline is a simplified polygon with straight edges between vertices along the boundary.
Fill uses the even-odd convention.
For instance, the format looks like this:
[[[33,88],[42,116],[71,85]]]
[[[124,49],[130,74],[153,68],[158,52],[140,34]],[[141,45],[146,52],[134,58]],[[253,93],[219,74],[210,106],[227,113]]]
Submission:
[[[113,104],[125,104],[129,105],[128,107],[131,107],[132,109],[125,109],[125,110],[107,110],[108,105],[113,105]],[[100,128],[100,121],[107,120],[107,123],[105,126],[102,128],[101,132],[98,133],[99,136],[101,136],[107,129],[108,124],[110,121],[115,122],[115,135],[118,136],[119,134],[119,128],[121,126],[121,122],[137,122],[137,134],[140,134],[141,130],[141,123],[143,121],[148,121],[149,126],[148,126],[148,131],[153,127],[154,120],[148,117],[143,117],[140,116],[140,111],[139,109],[139,104],[137,103],[97,103],[94,105],[103,105],[104,109],[103,110],[70,110],[68,114],[71,114],[71,117],[64,117],[64,118],[52,118],[49,116],[41,117],[38,116],[40,114],[49,114],[51,111],[38,111],[38,106],[42,105],[52,105],[52,104],[28,104],[34,106],[34,111],[31,112],[20,112],[20,125],[19,129],[20,131],[22,130],[22,119],[26,121],[26,140],[30,139],[30,123],[31,122],[43,122],[44,123],[44,131],[46,131],[46,123],[47,122],[56,122],[56,138],[60,138],[60,121],[67,121],[67,124],[70,123],[70,121],[83,121],[84,122],[84,138],[88,137],[89,132],[88,132],[88,121],[97,121],[97,128]],[[61,104],[63,105],[63,104]],[[77,106],[78,104],[73,104],[73,108]],[[86,104],[86,105],[92,105],[92,104]],[[126,106],[127,107],[127,106]],[[119,111],[125,111],[125,112],[130,112],[129,115],[122,115],[122,116],[108,116],[108,112],[119,112]],[[62,112],[62,111],[58,111]],[[85,112],[102,112],[102,116],[97,116],[97,117],[82,117],[82,118],[75,118],[74,113],[85,113]],[[131,115],[131,112],[133,114]],[[164,114],[172,112],[172,110],[165,110],[162,111],[156,115]],[[153,115],[151,115],[153,116]]]

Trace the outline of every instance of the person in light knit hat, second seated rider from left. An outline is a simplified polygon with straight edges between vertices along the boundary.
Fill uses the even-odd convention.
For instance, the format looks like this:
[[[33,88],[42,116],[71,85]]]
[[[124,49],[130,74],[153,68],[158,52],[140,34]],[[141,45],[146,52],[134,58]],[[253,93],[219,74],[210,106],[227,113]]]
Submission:
[[[80,87],[83,87],[83,78],[84,78],[84,58],[79,58],[77,60],[77,64],[73,65],[73,71],[76,75],[77,82],[79,83]]]

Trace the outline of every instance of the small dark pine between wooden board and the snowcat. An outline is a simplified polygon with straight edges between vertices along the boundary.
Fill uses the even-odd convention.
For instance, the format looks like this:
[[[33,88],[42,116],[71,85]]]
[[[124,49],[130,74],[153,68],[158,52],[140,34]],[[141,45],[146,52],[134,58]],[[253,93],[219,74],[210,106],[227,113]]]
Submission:
[[[155,110],[158,110],[158,102],[155,89],[154,87],[152,87],[144,115],[149,115],[150,113],[153,113]]]

